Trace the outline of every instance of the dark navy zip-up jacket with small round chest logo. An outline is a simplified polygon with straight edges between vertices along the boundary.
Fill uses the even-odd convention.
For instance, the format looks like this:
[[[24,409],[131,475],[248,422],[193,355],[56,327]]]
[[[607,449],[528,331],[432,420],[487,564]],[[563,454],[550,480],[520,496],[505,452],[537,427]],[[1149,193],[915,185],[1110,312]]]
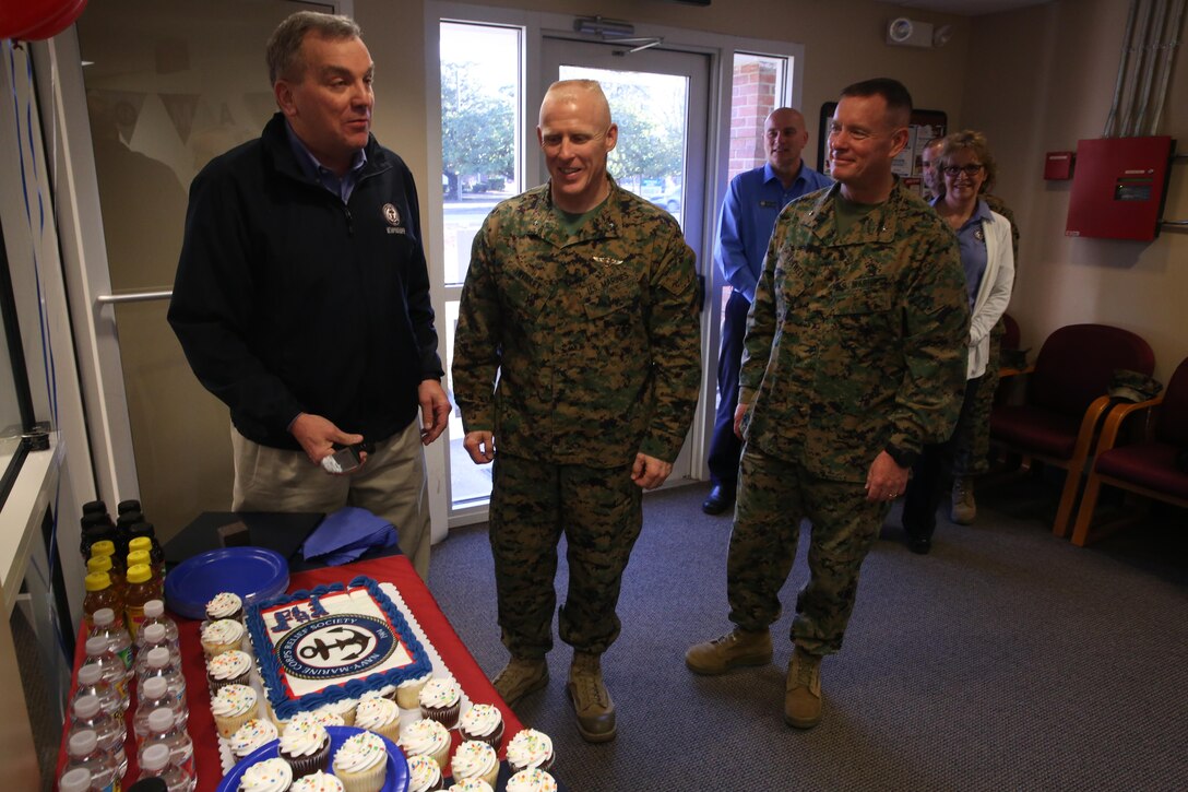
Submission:
[[[280,113],[190,186],[169,322],[235,428],[297,450],[298,413],[384,440],[442,377],[412,174],[372,137],[348,203],[302,171]]]

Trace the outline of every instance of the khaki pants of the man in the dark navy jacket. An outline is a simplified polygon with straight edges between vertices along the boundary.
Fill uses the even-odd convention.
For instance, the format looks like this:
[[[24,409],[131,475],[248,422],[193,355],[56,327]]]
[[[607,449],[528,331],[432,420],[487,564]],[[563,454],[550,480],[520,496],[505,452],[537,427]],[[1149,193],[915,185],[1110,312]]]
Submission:
[[[400,552],[429,580],[429,485],[421,422],[383,442],[356,473],[331,476],[304,451],[271,448],[230,430],[235,461],[234,511],[336,511],[367,509],[396,526]]]

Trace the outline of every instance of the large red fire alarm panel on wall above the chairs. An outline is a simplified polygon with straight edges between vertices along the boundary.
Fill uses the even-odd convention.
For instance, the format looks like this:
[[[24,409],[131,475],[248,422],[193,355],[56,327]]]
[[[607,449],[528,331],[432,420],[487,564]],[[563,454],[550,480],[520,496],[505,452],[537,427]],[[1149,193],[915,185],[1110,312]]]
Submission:
[[[1173,153],[1167,136],[1080,140],[1064,235],[1155,239]]]

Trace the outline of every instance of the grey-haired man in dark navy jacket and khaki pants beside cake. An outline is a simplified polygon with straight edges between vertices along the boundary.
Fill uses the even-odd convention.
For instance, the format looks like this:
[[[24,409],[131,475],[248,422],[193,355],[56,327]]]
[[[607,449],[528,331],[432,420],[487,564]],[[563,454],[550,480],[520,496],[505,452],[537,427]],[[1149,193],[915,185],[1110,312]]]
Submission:
[[[362,507],[426,577],[422,445],[450,408],[412,175],[371,134],[353,20],[292,14],[267,61],[280,112],[195,177],[169,321],[230,408],[234,510]]]

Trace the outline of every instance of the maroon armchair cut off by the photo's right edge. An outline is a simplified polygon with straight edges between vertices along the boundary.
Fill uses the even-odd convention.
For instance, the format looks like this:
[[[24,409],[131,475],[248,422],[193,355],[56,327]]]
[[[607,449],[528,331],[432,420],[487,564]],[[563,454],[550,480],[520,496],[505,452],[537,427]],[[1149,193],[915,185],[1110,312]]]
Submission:
[[[1146,419],[1143,439],[1119,445],[1119,429],[1132,415],[1136,420]],[[1176,367],[1162,396],[1136,404],[1119,404],[1110,411],[1101,429],[1093,470],[1085,484],[1081,508],[1076,513],[1073,543],[1079,547],[1088,543],[1093,511],[1102,484],[1188,508],[1188,470],[1183,467],[1186,454],[1188,358]]]

